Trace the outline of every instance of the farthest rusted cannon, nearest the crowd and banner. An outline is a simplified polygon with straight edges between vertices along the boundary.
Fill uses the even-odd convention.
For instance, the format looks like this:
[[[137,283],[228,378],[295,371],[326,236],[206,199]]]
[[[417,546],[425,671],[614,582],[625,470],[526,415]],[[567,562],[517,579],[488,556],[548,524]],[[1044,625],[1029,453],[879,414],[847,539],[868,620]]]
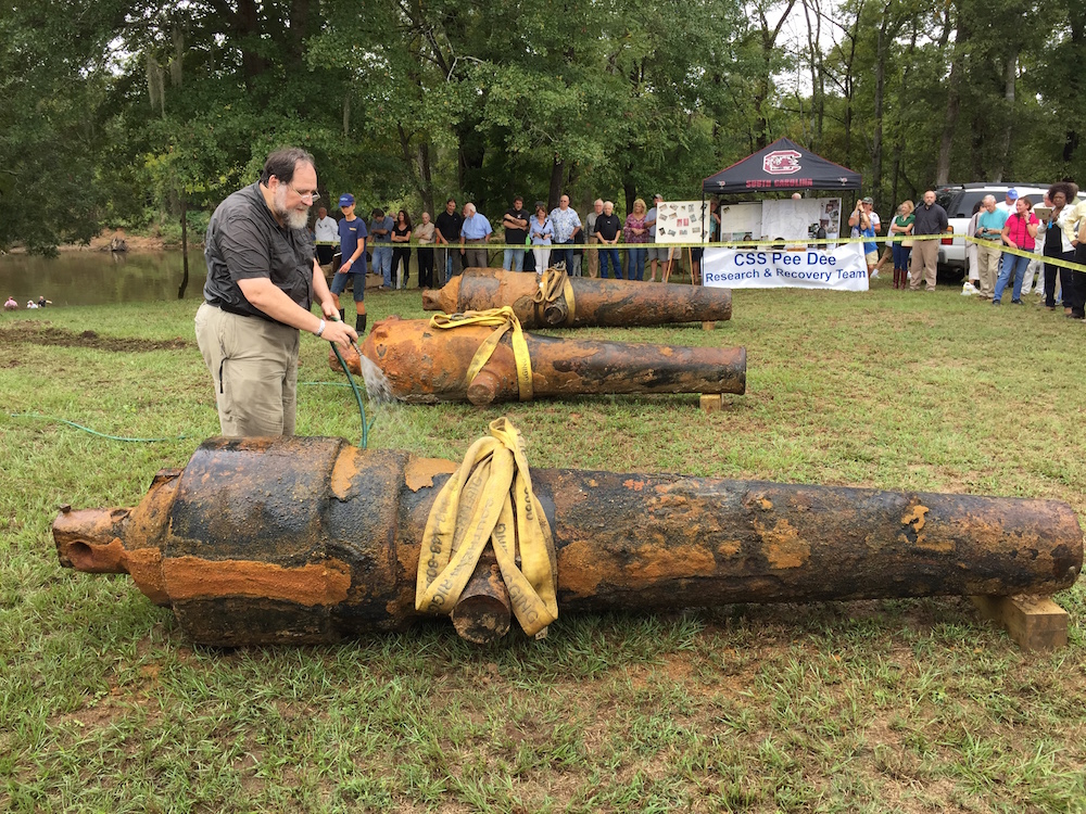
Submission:
[[[525,328],[652,326],[731,319],[732,292],[702,285],[646,284],[631,280],[570,277],[573,307],[565,295],[535,302],[535,275],[496,268],[468,268],[441,289],[422,292],[422,307],[458,314],[513,307]],[[572,310],[572,314],[570,314]]]

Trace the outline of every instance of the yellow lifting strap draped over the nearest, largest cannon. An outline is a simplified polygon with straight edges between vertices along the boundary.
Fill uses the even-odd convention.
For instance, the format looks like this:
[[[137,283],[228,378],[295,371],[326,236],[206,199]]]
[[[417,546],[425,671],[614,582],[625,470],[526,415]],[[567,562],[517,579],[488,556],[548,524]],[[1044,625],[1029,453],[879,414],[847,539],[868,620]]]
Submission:
[[[558,618],[554,539],[532,492],[523,440],[507,418],[492,421],[490,436],[471,445],[430,509],[415,609],[451,613],[488,542],[517,621],[529,636],[542,637]]]

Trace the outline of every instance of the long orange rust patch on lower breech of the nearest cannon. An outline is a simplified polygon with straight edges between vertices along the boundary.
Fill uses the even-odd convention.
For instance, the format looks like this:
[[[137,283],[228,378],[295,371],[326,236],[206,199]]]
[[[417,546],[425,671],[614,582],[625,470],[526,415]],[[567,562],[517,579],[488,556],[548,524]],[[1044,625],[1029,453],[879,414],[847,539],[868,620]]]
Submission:
[[[174,601],[244,596],[313,607],[344,601],[351,587],[351,568],[336,559],[282,568],[250,560],[174,557],[163,560],[162,573]]]

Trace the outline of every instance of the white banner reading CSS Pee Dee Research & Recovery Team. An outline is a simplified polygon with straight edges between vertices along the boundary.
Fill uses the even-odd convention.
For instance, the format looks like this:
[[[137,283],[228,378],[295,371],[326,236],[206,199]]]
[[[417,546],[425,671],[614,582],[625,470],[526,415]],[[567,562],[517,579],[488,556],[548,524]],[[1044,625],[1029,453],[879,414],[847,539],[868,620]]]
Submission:
[[[704,284],[719,289],[803,289],[867,291],[868,265],[863,244],[835,249],[706,249],[702,258]]]

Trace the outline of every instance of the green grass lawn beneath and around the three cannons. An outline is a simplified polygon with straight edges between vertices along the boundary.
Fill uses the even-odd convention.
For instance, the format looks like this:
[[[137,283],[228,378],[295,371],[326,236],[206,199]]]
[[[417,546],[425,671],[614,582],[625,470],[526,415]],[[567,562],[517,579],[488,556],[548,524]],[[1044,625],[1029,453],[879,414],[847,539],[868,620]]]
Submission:
[[[747,394],[720,412],[697,395],[381,406],[369,446],[459,460],[508,415],[538,467],[1083,513],[1086,326],[1026,300],[737,291],[715,331],[579,334],[746,346]],[[1049,654],[963,598],[567,614],[482,649],[447,622],[193,646],[127,576],[61,569],[50,524],[60,504],[136,505],[217,433],[195,306],[0,315],[0,811],[1086,811],[1081,582],[1056,597],[1070,645]],[[425,316],[417,291],[368,307],[370,325]],[[357,443],[351,392],[319,383],[342,381],[327,348],[302,339],[298,432]]]

